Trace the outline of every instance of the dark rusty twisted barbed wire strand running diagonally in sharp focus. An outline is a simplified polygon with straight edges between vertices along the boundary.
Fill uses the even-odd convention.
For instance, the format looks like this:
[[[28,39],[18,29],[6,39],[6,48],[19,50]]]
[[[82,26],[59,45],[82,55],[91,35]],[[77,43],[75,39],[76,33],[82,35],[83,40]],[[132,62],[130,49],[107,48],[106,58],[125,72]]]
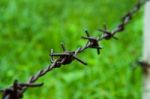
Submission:
[[[80,62],[83,65],[87,65],[87,63],[78,58],[77,55],[89,48],[96,49],[97,54],[100,54],[100,50],[103,47],[99,43],[102,40],[110,40],[112,38],[118,39],[117,37],[115,37],[115,35],[125,30],[125,26],[133,19],[134,14],[138,12],[141,6],[145,4],[147,1],[150,0],[138,1],[138,3],[135,4],[134,7],[121,18],[121,22],[113,30],[108,30],[107,26],[104,24],[104,27],[102,29],[98,29],[99,32],[102,32],[101,36],[98,37],[91,36],[88,30],[85,30],[86,36],[82,36],[81,38],[86,40],[87,42],[83,47],[79,47],[76,50],[69,51],[65,48],[64,44],[61,43],[61,48],[63,52],[54,53],[53,49],[51,49],[50,51],[51,64],[48,67],[41,69],[31,78],[29,78],[27,83],[19,83],[17,80],[15,80],[12,86],[0,90],[0,92],[2,92],[3,94],[2,99],[21,99],[23,97],[24,92],[29,87],[30,88],[40,87],[43,85],[43,83],[35,84],[35,82],[39,78],[41,78],[48,72],[52,71],[54,68],[60,68],[62,65],[71,64],[74,60]]]

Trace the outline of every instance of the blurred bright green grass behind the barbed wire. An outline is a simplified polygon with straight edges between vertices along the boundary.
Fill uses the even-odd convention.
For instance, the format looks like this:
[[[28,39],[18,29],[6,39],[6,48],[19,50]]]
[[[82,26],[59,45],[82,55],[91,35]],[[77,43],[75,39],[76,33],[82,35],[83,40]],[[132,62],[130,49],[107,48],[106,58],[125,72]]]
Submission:
[[[50,64],[49,51],[85,44],[84,29],[92,35],[106,23],[113,29],[136,0],[0,0],[0,89],[14,79],[25,82]],[[78,62],[55,69],[39,79],[40,88],[23,99],[140,99],[141,69],[131,63],[141,56],[143,10],[119,33],[119,41],[103,41],[101,55],[88,49]],[[1,94],[0,94],[1,95]]]

